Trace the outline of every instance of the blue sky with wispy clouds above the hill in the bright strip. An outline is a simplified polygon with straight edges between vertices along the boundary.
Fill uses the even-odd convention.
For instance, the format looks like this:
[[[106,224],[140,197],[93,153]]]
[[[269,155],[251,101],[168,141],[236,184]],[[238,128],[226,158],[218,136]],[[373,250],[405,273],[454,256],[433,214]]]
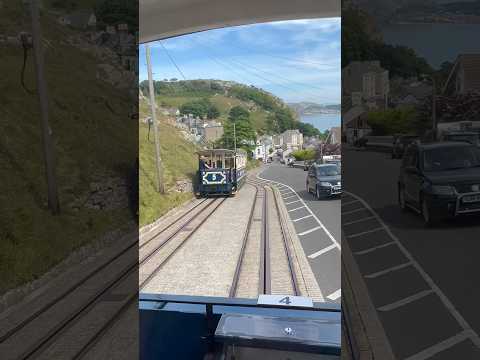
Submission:
[[[340,103],[340,18],[236,26],[150,43],[155,80],[234,80],[287,102]],[[140,46],[140,81],[147,78]]]

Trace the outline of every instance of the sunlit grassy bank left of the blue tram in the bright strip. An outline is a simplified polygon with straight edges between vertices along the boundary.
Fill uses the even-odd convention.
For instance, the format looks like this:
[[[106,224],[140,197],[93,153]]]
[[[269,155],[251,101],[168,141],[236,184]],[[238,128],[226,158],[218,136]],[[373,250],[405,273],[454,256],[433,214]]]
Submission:
[[[149,114],[149,107],[145,101],[140,103],[140,118]],[[191,192],[176,192],[175,182],[191,180],[197,168],[197,148],[187,141],[174,126],[161,122],[159,133],[161,144],[161,158],[164,169],[165,194],[156,191],[155,143],[153,127],[150,140],[147,139],[148,125],[141,123],[139,130],[140,153],[140,225],[151,223],[165,214],[168,210],[190,199]]]

